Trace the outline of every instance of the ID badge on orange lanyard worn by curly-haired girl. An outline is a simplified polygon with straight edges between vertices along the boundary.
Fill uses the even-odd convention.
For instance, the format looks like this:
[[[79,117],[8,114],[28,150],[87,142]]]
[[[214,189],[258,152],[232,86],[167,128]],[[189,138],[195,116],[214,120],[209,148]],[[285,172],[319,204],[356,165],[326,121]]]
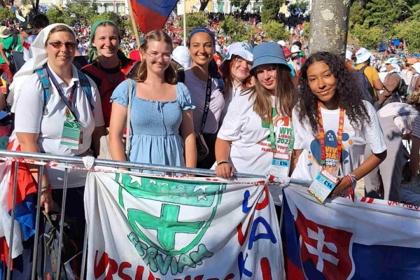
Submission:
[[[339,183],[339,177],[332,172],[325,169],[326,153],[325,153],[325,132],[323,129],[323,121],[321,115],[321,106],[318,103],[318,128],[319,128],[319,139],[321,140],[321,165],[322,169],[311,186],[309,186],[308,193],[316,198],[319,202],[323,203],[325,199],[332,193],[332,190]],[[338,174],[339,165],[341,162],[342,154],[342,136],[344,130],[344,109],[339,109],[339,124],[338,124],[338,135],[337,135],[337,159],[338,159]]]

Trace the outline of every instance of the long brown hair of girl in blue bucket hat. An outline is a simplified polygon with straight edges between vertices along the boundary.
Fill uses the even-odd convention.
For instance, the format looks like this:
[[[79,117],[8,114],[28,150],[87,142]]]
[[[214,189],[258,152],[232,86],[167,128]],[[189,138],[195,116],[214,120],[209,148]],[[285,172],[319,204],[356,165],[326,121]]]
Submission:
[[[276,67],[276,90],[274,92],[274,104],[276,111],[281,116],[292,117],[293,106],[296,101],[296,87],[288,66],[274,64]],[[253,111],[260,116],[261,120],[269,123],[269,115],[272,112],[272,94],[263,87],[258,78],[255,78],[255,86],[251,87],[252,92],[249,99],[255,96]]]

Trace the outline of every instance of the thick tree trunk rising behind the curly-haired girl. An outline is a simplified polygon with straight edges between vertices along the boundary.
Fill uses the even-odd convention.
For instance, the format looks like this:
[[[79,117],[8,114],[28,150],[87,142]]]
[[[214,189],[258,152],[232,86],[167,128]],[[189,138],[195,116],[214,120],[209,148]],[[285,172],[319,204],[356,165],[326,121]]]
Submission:
[[[309,53],[344,54],[349,33],[350,1],[313,0],[309,30]]]

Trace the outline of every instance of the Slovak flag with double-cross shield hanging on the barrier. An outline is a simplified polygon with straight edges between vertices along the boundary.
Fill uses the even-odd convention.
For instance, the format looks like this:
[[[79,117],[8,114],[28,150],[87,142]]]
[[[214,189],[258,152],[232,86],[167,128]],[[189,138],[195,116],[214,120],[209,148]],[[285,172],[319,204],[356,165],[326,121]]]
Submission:
[[[288,279],[419,279],[419,207],[366,197],[320,204],[300,186],[283,190],[283,207]]]

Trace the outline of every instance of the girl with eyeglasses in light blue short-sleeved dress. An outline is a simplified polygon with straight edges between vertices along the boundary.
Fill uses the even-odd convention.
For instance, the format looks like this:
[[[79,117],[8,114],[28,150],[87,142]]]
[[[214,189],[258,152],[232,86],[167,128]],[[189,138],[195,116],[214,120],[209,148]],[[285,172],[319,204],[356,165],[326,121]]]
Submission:
[[[149,32],[141,45],[143,60],[137,76],[124,81],[113,92],[109,127],[113,160],[126,160],[121,139],[130,94],[130,162],[195,167],[195,106],[187,87],[176,81],[170,66],[171,54],[172,40],[168,34],[161,30]]]

